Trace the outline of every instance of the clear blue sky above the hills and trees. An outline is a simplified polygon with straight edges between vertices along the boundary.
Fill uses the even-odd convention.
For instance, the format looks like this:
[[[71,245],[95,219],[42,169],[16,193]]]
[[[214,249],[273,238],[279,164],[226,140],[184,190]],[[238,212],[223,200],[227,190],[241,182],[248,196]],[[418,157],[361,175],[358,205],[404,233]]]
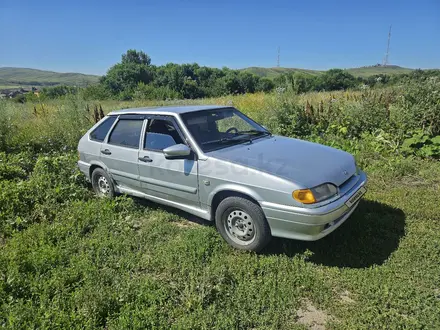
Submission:
[[[134,48],[153,64],[440,68],[440,0],[0,0],[0,66],[104,74]]]

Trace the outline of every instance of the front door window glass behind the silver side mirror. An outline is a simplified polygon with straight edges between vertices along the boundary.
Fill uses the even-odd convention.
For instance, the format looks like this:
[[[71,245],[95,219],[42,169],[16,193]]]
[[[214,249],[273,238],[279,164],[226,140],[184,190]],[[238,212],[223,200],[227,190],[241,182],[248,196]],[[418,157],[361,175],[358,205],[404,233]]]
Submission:
[[[145,134],[144,149],[163,150],[184,143],[174,124],[169,120],[151,119]]]

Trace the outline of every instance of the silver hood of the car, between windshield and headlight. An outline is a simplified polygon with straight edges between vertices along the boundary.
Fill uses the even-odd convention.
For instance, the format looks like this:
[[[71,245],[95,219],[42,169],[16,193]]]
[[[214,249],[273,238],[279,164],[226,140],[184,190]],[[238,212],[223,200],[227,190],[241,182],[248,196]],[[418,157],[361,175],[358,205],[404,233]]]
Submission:
[[[349,153],[308,141],[273,136],[209,152],[209,157],[249,166],[304,188],[340,186],[356,173]]]

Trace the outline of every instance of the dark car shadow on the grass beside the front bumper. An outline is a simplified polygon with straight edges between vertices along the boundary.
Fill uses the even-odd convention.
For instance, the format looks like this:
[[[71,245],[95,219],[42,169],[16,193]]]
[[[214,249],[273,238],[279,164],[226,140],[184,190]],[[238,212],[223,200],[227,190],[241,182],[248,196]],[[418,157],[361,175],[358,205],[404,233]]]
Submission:
[[[357,210],[333,233],[315,242],[273,238],[263,254],[294,256],[312,252],[309,261],[336,267],[381,265],[405,234],[405,214],[389,205],[362,200]]]

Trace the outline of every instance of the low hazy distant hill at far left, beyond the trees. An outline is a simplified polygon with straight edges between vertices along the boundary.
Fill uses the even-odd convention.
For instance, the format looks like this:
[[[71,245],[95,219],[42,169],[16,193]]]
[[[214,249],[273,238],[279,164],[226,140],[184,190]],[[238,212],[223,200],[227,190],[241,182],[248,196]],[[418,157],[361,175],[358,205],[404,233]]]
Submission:
[[[56,85],[87,86],[96,84],[99,76],[82,73],[59,73],[27,68],[0,68],[0,89]]]

